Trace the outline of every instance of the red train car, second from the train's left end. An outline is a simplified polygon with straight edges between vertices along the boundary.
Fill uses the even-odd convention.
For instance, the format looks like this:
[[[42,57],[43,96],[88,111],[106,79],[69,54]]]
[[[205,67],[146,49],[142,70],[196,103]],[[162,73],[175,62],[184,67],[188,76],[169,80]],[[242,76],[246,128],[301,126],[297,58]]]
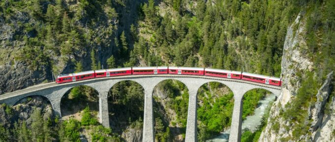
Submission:
[[[130,74],[131,74],[131,68],[96,70],[95,71],[95,78],[130,75]]]

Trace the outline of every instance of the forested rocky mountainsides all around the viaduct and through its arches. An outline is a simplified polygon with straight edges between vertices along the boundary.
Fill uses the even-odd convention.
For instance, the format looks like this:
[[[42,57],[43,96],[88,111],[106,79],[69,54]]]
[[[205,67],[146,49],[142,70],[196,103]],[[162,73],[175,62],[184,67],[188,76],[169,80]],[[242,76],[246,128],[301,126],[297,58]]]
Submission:
[[[335,118],[334,75],[327,77],[335,70],[334,9],[335,0],[1,0],[0,94],[51,80],[53,74],[102,68],[247,71],[281,76],[284,87],[269,119],[266,116],[256,132],[246,132],[243,141],[316,140],[321,137],[320,123],[328,122],[321,119]],[[156,141],[184,140],[187,90],[175,80],[155,88]],[[328,94],[321,96],[318,90]],[[252,115],[267,94],[248,92],[243,117]],[[5,117],[0,120],[11,121],[0,125],[0,131],[15,136],[0,139],[25,141],[37,137],[26,127],[43,126],[46,135],[38,135],[38,140],[46,142],[79,141],[83,136],[91,141],[141,141],[144,98],[139,84],[122,82],[110,90],[112,130],[97,123],[94,97],[93,89],[83,86],[64,97],[70,99],[64,102],[76,101],[71,102],[76,109],[70,114],[81,116],[79,120],[48,120],[42,118],[43,111],[13,111],[3,105]],[[233,95],[223,84],[208,83],[199,89],[200,142],[229,129],[233,104]],[[33,114],[30,123],[15,117],[20,113]],[[327,130],[335,134],[334,128]]]

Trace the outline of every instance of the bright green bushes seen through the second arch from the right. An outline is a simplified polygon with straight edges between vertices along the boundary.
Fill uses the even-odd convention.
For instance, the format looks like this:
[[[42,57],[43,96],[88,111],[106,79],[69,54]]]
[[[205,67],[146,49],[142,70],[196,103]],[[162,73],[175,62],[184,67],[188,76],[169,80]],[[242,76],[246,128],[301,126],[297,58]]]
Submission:
[[[201,121],[198,126],[198,141],[210,139],[231,124],[234,95],[231,91],[219,94],[217,90],[222,88],[224,85],[210,82],[199,89],[198,100],[202,103],[197,110],[198,120]],[[211,94],[210,90],[215,93]]]

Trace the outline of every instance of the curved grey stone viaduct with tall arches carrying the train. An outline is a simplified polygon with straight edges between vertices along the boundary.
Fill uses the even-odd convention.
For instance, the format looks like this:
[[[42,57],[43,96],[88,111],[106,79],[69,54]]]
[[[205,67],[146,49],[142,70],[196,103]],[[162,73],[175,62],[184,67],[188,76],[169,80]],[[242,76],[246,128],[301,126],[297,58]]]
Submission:
[[[279,95],[281,87],[249,82],[237,79],[218,78],[210,76],[195,75],[129,75],[117,77],[95,78],[90,80],[56,84],[55,82],[39,84],[29,88],[0,95],[0,103],[15,105],[20,99],[30,95],[42,95],[49,99],[54,111],[61,116],[61,97],[71,88],[86,85],[94,88],[99,93],[99,118],[103,126],[109,127],[108,116],[108,92],[118,82],[131,80],[139,83],[144,88],[144,124],[143,142],[154,141],[152,92],[154,87],[161,81],[175,79],[181,81],[188,89],[189,102],[186,125],[185,142],[197,141],[197,92],[198,89],[208,82],[219,82],[226,85],[234,94],[234,110],[232,116],[229,142],[241,141],[241,126],[243,112],[243,95],[252,89],[260,88]]]

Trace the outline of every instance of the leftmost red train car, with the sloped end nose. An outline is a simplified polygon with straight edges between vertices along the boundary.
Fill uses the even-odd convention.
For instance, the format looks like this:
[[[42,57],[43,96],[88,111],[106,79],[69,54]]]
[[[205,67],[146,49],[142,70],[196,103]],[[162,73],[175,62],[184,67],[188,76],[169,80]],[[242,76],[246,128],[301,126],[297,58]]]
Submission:
[[[74,82],[91,78],[95,78],[94,71],[84,71],[78,73],[59,75],[56,79],[56,83]]]

